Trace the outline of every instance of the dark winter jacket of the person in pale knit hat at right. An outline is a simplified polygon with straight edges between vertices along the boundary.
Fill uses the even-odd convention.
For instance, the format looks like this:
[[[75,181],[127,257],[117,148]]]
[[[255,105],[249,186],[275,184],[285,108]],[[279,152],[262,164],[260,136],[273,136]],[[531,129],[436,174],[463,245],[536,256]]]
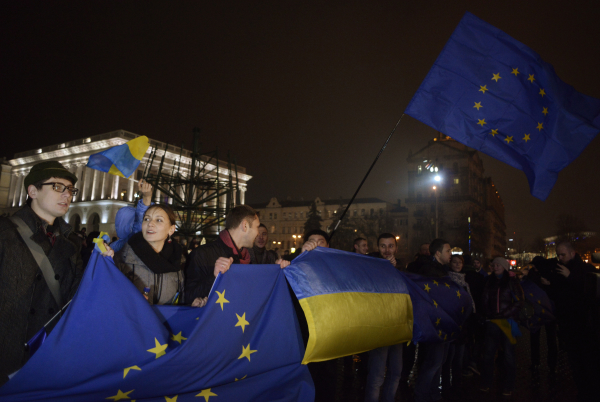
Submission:
[[[491,274],[483,288],[483,314],[487,319],[518,318],[525,296],[519,280],[504,272],[502,278]]]

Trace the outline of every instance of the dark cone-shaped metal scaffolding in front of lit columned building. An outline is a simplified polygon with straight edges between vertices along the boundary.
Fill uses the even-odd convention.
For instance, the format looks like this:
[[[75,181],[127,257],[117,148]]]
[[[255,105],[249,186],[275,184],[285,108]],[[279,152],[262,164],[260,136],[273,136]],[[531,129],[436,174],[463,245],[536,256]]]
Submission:
[[[199,140],[200,130],[194,128],[193,151],[189,154],[182,145],[179,157],[172,161],[167,157],[168,144],[164,150],[154,147],[143,174],[153,186],[152,199],[169,204],[175,212],[175,234],[188,241],[200,236],[207,241],[216,238],[225,228],[225,217],[235,207],[239,190],[235,159],[229,152],[226,161],[219,159],[218,149],[200,153]]]

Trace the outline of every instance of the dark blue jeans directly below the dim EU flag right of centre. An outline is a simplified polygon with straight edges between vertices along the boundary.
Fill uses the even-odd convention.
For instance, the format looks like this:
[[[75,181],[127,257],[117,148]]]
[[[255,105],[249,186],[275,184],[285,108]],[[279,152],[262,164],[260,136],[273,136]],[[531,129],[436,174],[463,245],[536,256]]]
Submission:
[[[442,399],[440,376],[448,353],[448,343],[419,343],[419,372],[415,383],[415,402]]]

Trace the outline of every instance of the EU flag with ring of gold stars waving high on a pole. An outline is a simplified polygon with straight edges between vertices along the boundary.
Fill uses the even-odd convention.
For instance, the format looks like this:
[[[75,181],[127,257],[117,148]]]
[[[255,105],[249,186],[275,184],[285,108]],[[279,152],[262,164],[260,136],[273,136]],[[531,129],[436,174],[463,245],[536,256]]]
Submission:
[[[600,99],[577,92],[533,50],[470,13],[405,113],[522,170],[541,200],[600,131]]]

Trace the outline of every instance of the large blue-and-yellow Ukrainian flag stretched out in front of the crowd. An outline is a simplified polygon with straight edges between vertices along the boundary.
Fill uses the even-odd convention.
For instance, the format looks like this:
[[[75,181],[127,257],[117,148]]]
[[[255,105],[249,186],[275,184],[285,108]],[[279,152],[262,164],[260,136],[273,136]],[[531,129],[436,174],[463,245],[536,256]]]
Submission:
[[[303,364],[412,338],[412,302],[389,261],[317,247],[283,271],[308,323]]]

